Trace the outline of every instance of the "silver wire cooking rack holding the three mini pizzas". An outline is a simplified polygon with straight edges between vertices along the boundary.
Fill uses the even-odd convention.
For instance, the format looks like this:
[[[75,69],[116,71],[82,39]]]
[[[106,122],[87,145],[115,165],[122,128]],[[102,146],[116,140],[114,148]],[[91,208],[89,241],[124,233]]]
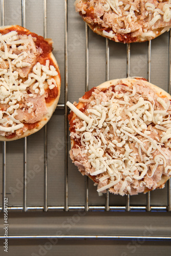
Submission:
[[[26,0],[21,0],[22,5],[22,26],[26,27]],[[4,0],[1,0],[1,23],[2,26],[5,25],[5,11],[4,11]],[[85,33],[86,33],[86,49],[85,49],[85,60],[86,60],[86,67],[85,67],[85,91],[89,90],[89,28],[86,24],[85,26]],[[47,0],[44,0],[44,37],[47,37]],[[109,59],[110,59],[110,48],[109,48],[109,39],[106,39],[105,41],[105,55],[106,55],[106,65],[105,65],[105,79],[109,80]],[[130,76],[130,44],[127,44],[127,55],[126,55],[126,73],[127,77]],[[169,47],[168,47],[168,59],[169,59],[169,65],[168,65],[168,92],[170,93],[171,90],[171,33],[169,32]],[[151,41],[148,42],[147,45],[147,79],[150,82],[151,81]],[[62,109],[65,111],[65,140],[68,140],[68,108],[66,106],[66,102],[68,101],[68,1],[65,0],[65,103],[58,104],[57,109]],[[3,201],[6,198],[6,142],[3,142]],[[11,211],[15,210],[23,210],[24,212],[29,210],[96,210],[96,211],[130,211],[130,210],[137,210],[137,211],[151,211],[151,210],[157,210],[157,211],[171,211],[171,184],[170,179],[167,181],[167,205],[164,206],[152,206],[151,205],[151,193],[148,192],[146,194],[146,204],[141,205],[130,205],[130,196],[126,196],[126,203],[124,206],[117,206],[117,205],[110,205],[109,203],[109,191],[107,191],[105,196],[105,205],[90,205],[89,204],[89,178],[85,177],[85,195],[84,195],[84,205],[75,205],[71,206],[69,205],[68,201],[68,151],[69,146],[66,143],[65,144],[65,204],[64,205],[56,205],[51,206],[48,205],[48,147],[47,147],[47,125],[44,127],[44,205],[42,206],[28,206],[27,205],[27,137],[24,139],[24,187],[23,187],[23,206],[9,206],[8,209]],[[0,207],[0,210],[4,212],[4,205]],[[21,239],[21,238],[106,238],[106,239],[138,239],[138,238],[144,238],[139,236],[11,236],[9,238],[13,239]],[[0,237],[0,239],[3,239],[4,237]],[[146,239],[171,239],[166,237],[147,237]]]

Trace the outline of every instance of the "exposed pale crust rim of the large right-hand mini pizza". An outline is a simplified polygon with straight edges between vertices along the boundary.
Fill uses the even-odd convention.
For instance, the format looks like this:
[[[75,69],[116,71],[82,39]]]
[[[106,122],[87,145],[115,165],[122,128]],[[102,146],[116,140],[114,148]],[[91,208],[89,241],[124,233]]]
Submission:
[[[142,78],[142,77],[129,77],[129,78],[123,78],[123,79],[114,79],[114,80],[109,80],[109,81],[105,81],[103,82],[102,84],[100,84],[99,86],[97,86],[97,88],[109,88],[110,86],[116,86],[118,84],[119,81],[122,81],[123,84],[126,84],[127,86],[131,87],[132,84],[134,84],[135,82],[137,82],[137,80],[140,80],[140,81],[143,81],[143,83],[147,86],[147,87],[151,87],[152,89],[155,89],[157,91],[157,94],[158,94],[158,97],[163,97],[163,98],[167,98],[168,100],[171,100],[171,96],[165,92],[163,89],[155,86],[154,84],[152,83],[149,83],[148,81],[146,81],[146,79]],[[83,108],[83,105],[84,103],[83,102],[78,102],[78,104],[76,104],[75,102],[75,106],[77,109],[82,109]],[[72,119],[71,121],[73,121],[77,116],[75,113],[72,112]],[[74,148],[74,145],[75,145],[75,140],[71,138],[71,151],[72,151],[72,148]],[[70,152],[71,152],[70,151]],[[73,161],[74,162],[74,161]],[[171,163],[171,161],[170,161]],[[85,173],[86,175],[88,175],[87,173]],[[95,183],[97,183],[97,180],[96,180],[96,176],[92,176],[91,174],[88,175],[88,177],[90,179],[92,179]],[[161,176],[161,180],[157,183],[157,186],[156,188],[163,188],[164,187],[164,184],[166,183],[166,181],[169,179],[170,177],[168,176],[164,176],[162,175]],[[156,189],[155,188],[155,189]],[[151,191],[153,190],[152,189],[149,189],[147,187],[144,188],[144,191],[143,193],[147,193],[148,191]],[[129,194],[129,193],[128,193]]]

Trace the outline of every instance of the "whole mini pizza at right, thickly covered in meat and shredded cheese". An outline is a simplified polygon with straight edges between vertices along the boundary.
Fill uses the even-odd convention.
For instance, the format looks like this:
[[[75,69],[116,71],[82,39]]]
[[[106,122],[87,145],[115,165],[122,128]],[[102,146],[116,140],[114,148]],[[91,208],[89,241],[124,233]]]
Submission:
[[[67,105],[70,157],[97,191],[137,195],[171,176],[171,96],[144,78],[106,81]]]

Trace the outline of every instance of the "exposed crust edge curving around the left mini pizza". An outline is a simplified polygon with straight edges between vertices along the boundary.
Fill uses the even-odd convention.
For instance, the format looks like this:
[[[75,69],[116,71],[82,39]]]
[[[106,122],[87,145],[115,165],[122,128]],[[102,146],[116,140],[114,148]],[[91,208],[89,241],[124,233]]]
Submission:
[[[29,30],[27,30],[23,27],[17,26],[17,25],[0,27],[0,30],[4,30],[4,29],[9,29],[9,30],[12,29],[12,30],[16,30],[16,31],[25,31],[27,34],[31,33]],[[45,39],[45,41],[47,41],[49,45],[52,44],[51,39]],[[46,59],[50,59],[50,61],[51,61],[50,65],[52,65],[52,63],[53,63],[53,66],[55,67],[55,70],[57,71],[56,76],[51,76],[51,78],[54,78],[54,80],[56,81],[56,86],[57,86],[57,90],[58,90],[57,97],[50,100],[50,102],[46,102],[47,114],[45,114],[42,117],[42,119],[37,122],[36,127],[34,127],[31,130],[27,130],[26,132],[24,132],[23,134],[21,134],[18,137],[14,137],[14,138],[10,138],[10,139],[6,138],[5,136],[0,135],[0,141],[11,141],[11,140],[16,140],[16,139],[20,139],[20,138],[24,138],[26,136],[29,136],[29,135],[39,131],[49,121],[49,119],[53,115],[53,112],[56,109],[56,106],[57,106],[57,103],[58,103],[58,100],[59,100],[59,96],[60,96],[61,77],[60,77],[60,72],[59,72],[59,67],[58,67],[57,61],[56,61],[54,55],[52,54],[52,52],[49,52],[46,55]],[[44,89],[46,90],[46,89],[48,89],[48,87],[49,87],[48,83],[47,83],[47,81],[45,81],[44,82]]]

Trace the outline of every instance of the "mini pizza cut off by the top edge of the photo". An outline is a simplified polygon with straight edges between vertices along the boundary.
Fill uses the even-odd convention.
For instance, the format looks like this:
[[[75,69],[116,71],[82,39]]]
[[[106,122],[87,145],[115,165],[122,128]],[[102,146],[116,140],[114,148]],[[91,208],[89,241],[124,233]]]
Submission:
[[[76,0],[75,8],[95,33],[116,42],[151,40],[171,27],[170,0]]]

